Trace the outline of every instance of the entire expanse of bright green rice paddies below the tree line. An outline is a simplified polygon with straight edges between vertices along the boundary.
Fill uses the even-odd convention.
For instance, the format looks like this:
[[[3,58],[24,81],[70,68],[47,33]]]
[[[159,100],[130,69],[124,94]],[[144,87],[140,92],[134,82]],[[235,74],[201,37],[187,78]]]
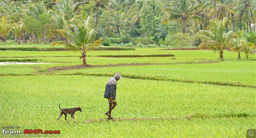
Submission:
[[[0,65],[0,126],[60,130],[57,137],[246,137],[248,129],[256,129],[255,55],[237,60],[236,53],[225,51],[220,60],[209,50],[161,49],[89,51],[87,64],[99,66],[66,70],[50,69],[81,65],[80,53],[0,51],[1,62],[48,63]],[[175,57],[99,57],[165,54]],[[144,119],[84,122],[107,118],[103,95],[116,72],[124,77],[117,82],[112,116]],[[74,115],[76,123],[68,124],[64,115],[57,122],[60,103],[82,108]]]

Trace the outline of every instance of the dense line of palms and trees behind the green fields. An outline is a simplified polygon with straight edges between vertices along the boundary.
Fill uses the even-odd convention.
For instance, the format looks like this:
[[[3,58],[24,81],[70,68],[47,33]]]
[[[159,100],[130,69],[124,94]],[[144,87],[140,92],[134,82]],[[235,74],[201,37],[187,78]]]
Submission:
[[[142,37],[159,45],[199,45],[197,32],[224,18],[224,31],[245,30],[247,40],[256,41],[255,0],[1,0],[0,36],[19,44],[27,39],[37,44],[70,43],[58,30],[72,30],[70,23],[79,24],[89,16],[95,39],[103,38],[106,44],[110,38],[112,43],[129,43]]]

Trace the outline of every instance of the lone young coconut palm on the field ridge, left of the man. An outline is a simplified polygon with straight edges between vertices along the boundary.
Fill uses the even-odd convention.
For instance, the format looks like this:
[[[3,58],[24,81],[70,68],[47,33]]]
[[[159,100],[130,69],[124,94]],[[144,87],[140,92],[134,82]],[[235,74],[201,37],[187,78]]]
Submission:
[[[80,59],[83,59],[83,65],[86,63],[86,52],[96,48],[100,42],[101,38],[95,40],[96,34],[94,29],[90,28],[90,16],[87,19],[80,20],[78,24],[70,22],[72,26],[72,31],[69,29],[60,29],[60,33],[71,41],[71,44],[60,41],[55,42],[54,45],[63,45],[65,48],[71,51],[78,51],[81,53]]]

